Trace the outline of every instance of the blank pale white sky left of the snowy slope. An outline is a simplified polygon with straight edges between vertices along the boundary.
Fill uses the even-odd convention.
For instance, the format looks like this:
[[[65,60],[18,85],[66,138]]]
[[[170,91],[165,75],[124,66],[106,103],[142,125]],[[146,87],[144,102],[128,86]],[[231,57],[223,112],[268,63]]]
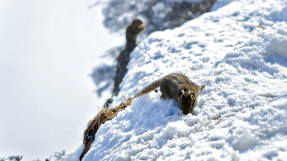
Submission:
[[[125,40],[103,28],[99,7],[86,8],[94,1],[0,2],[0,157],[44,160],[81,145],[105,101],[88,74]]]

